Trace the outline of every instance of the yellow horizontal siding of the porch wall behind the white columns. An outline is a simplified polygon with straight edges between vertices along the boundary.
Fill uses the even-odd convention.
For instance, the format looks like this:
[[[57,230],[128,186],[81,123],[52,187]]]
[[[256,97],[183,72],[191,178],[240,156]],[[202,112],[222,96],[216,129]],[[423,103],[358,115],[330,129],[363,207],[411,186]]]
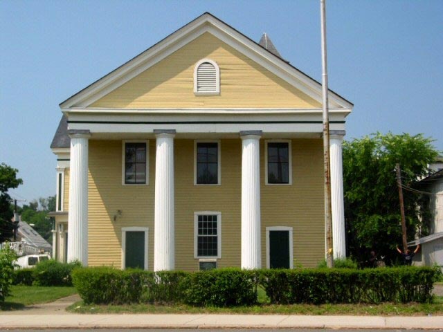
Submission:
[[[293,184],[264,185],[264,141],[260,149],[262,266],[266,266],[266,227],[293,227],[294,259],[316,266],[324,257],[323,160],[320,140],[292,140]],[[240,266],[241,147],[239,139],[221,140],[221,185],[194,185],[194,141],[174,140],[175,262],[197,270],[194,212],[221,212],[219,267]],[[148,266],[154,257],[155,142],[150,141],[150,185],[123,186],[122,142],[89,142],[89,265],[121,266],[121,228],[149,227]],[[122,216],[113,221],[117,210]]]

